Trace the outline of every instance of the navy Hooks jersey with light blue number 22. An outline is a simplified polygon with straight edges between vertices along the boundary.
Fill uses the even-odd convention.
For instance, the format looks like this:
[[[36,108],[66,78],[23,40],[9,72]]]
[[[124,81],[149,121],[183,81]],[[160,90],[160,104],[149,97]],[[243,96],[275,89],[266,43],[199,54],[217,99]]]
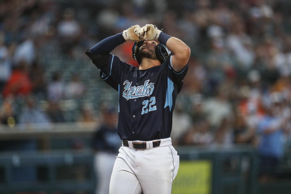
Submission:
[[[139,70],[110,55],[100,76],[119,92],[118,135],[130,141],[169,138],[177,94],[188,64],[176,72],[172,56],[159,66]]]

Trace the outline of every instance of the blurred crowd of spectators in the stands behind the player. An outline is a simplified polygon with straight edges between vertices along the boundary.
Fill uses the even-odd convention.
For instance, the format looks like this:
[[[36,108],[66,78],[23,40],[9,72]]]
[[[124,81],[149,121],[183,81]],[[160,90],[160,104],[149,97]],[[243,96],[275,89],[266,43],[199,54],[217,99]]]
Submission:
[[[98,87],[106,86],[84,51],[131,25],[152,23],[192,51],[173,143],[249,144],[270,161],[262,165],[274,165],[291,141],[290,8],[283,0],[1,1],[0,120],[96,121]],[[138,65],[131,48],[126,42],[113,53]],[[79,100],[79,114],[68,117],[60,104],[70,99]]]

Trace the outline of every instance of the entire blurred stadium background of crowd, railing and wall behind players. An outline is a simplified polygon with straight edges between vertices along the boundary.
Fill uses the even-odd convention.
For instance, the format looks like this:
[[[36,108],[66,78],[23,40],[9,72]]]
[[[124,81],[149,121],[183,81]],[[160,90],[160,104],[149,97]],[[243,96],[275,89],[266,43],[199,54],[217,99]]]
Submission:
[[[290,10],[288,0],[0,1],[0,193],[95,193],[94,155],[106,149],[94,134],[118,94],[84,51],[149,23],[192,52],[173,113],[172,193],[290,193]],[[137,65],[131,48],[113,53]]]

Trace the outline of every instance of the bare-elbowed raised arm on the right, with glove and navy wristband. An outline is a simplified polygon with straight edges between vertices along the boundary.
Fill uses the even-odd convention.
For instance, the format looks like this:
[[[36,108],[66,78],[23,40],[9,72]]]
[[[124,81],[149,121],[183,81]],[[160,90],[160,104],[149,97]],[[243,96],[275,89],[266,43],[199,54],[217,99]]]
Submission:
[[[146,40],[156,40],[167,46],[173,53],[172,65],[176,72],[181,71],[188,64],[191,50],[180,39],[165,34],[152,24],[143,26],[140,33],[144,33]]]

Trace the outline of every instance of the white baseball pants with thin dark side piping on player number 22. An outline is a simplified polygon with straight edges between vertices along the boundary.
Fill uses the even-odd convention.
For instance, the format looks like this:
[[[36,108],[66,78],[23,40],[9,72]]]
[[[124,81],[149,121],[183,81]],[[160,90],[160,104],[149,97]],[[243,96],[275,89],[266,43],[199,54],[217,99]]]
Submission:
[[[152,141],[147,142],[151,144]],[[122,146],[113,167],[109,194],[170,194],[179,169],[179,156],[171,138],[159,147],[132,149]]]

